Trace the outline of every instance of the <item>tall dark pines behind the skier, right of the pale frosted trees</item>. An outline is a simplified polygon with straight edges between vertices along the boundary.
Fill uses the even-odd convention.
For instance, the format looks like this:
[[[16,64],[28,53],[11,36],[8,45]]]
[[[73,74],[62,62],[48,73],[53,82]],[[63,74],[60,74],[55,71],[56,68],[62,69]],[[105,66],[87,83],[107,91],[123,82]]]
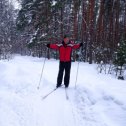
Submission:
[[[64,34],[83,42],[82,60],[110,62],[126,40],[125,0],[22,0],[17,28],[29,36],[32,53],[44,43],[61,42]]]

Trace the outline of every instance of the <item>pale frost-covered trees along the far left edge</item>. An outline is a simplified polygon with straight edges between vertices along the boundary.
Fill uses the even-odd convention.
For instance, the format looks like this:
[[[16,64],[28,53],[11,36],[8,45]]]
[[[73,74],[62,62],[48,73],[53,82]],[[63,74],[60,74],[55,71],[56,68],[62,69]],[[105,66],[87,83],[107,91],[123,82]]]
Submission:
[[[15,11],[8,0],[0,1],[0,59],[8,58],[16,38]]]

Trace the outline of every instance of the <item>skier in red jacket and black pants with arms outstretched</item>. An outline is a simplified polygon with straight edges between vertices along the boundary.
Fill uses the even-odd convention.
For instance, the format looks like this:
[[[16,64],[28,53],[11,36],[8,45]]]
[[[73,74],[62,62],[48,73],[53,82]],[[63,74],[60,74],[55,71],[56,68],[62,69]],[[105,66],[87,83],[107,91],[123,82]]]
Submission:
[[[56,85],[57,88],[60,87],[62,84],[64,71],[65,71],[64,85],[65,88],[68,88],[70,81],[72,49],[79,49],[82,45],[83,43],[72,44],[68,35],[64,35],[64,39],[61,44],[47,44],[48,48],[59,50],[60,63]]]

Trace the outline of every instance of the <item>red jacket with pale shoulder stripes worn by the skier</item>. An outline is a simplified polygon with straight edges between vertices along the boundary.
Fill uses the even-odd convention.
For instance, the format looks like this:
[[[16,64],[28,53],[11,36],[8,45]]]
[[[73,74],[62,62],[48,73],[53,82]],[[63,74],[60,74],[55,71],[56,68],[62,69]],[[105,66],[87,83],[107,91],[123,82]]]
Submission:
[[[50,48],[59,50],[60,61],[69,62],[71,61],[72,49],[80,48],[80,44],[65,44],[62,42],[62,44],[50,44]]]

